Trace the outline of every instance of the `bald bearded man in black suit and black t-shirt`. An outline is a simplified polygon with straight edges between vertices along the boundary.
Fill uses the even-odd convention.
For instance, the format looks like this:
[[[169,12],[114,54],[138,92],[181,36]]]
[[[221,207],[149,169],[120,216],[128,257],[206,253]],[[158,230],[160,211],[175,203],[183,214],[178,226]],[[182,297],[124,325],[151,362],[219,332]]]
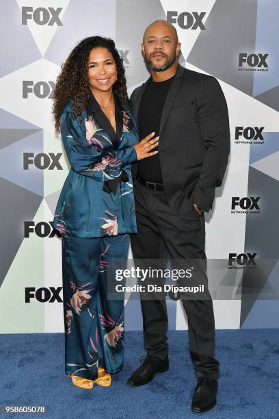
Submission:
[[[170,23],[155,21],[144,32],[142,53],[151,77],[134,90],[131,101],[140,138],[154,131],[159,135],[159,153],[133,167],[135,259],[162,259],[165,251],[170,259],[206,259],[204,211],[212,209],[228,161],[228,111],[220,84],[214,77],[180,66],[180,49]],[[147,356],[127,381],[133,386],[168,370],[165,301],[141,295],[141,304]],[[191,409],[207,411],[216,403],[219,377],[211,296],[185,299],[183,307],[198,379]]]

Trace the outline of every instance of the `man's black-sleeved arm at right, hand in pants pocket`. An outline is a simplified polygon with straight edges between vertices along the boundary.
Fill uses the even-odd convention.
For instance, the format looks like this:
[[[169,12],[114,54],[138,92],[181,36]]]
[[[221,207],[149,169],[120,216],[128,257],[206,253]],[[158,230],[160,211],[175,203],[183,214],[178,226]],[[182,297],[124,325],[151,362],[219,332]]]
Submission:
[[[222,88],[215,77],[208,77],[197,103],[198,125],[202,142],[207,149],[200,178],[193,192],[193,202],[209,212],[212,209],[215,188],[222,180],[230,153],[228,108]]]

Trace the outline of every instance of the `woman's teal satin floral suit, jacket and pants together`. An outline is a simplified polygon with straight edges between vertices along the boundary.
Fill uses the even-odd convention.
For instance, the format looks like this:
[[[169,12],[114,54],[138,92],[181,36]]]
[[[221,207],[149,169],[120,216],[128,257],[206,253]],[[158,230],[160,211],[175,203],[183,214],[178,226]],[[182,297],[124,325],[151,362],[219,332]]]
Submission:
[[[116,99],[116,98],[115,98]],[[92,115],[61,116],[70,163],[53,225],[62,233],[66,374],[96,379],[98,366],[120,371],[124,302],[107,299],[111,259],[127,259],[136,233],[131,164],[138,142],[129,104],[116,99],[116,132],[92,94]]]

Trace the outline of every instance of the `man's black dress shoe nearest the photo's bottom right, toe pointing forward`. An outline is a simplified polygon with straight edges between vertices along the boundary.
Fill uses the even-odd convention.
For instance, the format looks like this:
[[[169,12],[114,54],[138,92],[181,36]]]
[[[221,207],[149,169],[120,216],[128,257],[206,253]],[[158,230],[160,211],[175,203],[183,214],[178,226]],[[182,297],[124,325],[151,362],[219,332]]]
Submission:
[[[200,377],[195,388],[191,410],[196,413],[202,413],[212,409],[216,404],[217,388],[217,380]]]

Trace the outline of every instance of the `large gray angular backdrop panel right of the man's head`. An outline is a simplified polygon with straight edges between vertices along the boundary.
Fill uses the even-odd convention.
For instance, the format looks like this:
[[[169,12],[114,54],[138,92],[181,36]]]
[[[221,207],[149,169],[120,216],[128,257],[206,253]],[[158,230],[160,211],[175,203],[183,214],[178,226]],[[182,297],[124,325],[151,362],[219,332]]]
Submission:
[[[252,96],[253,72],[238,71],[238,56],[254,51],[256,12],[256,1],[241,2],[239,13],[234,1],[217,0],[187,62]]]

